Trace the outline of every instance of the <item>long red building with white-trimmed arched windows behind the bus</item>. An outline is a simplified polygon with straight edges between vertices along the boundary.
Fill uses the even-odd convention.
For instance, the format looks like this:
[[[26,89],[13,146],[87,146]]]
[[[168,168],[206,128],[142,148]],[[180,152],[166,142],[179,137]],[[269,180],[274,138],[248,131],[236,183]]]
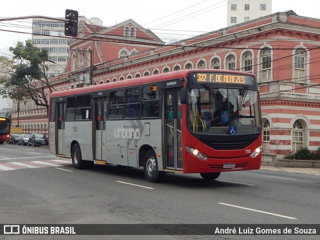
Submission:
[[[252,72],[264,152],[283,156],[320,146],[320,19],[278,12],[169,45],[131,19],[108,28],[81,24],[79,31],[65,73],[51,79],[57,90],[82,86],[85,74],[104,84],[185,68]],[[20,115],[20,124],[46,128],[46,114],[37,111]]]

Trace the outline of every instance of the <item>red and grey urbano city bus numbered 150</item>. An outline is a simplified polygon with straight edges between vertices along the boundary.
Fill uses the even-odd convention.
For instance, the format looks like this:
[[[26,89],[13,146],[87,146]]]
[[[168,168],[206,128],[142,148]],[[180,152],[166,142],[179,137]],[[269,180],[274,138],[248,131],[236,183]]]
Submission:
[[[178,70],[50,94],[50,151],[93,163],[165,172],[259,169],[261,113],[256,77],[216,69]]]

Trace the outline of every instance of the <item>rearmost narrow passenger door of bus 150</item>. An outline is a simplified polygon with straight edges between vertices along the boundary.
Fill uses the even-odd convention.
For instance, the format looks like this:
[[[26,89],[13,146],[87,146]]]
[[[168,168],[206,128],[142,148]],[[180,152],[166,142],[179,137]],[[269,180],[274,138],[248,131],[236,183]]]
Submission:
[[[57,102],[57,116],[56,116],[56,123],[57,123],[57,137],[55,138],[55,145],[57,146],[57,154],[65,155],[64,149],[64,109],[65,109],[65,102]]]

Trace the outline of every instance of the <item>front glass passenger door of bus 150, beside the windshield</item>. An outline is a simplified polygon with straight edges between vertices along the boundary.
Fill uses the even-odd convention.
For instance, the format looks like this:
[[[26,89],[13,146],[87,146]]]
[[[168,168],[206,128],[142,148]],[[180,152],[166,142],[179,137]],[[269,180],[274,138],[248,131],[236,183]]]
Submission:
[[[182,170],[180,89],[165,89],[164,97],[165,168]]]

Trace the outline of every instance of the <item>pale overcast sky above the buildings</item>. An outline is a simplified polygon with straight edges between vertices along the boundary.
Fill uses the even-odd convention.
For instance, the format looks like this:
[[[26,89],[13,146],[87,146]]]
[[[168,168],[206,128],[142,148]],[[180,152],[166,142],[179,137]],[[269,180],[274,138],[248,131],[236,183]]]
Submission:
[[[151,3],[150,3],[151,2]],[[234,0],[233,3],[236,3]],[[4,3],[4,2],[3,2]],[[65,9],[77,10],[90,19],[98,17],[103,26],[129,18],[151,29],[163,41],[185,39],[226,27],[227,0],[12,0],[1,4],[1,18],[22,16],[64,17]],[[271,12],[293,10],[301,16],[318,18],[314,0],[273,0]],[[0,54],[7,54],[17,41],[31,38],[32,18],[0,21]],[[10,32],[16,31],[16,32]],[[21,33],[25,32],[25,33]]]

